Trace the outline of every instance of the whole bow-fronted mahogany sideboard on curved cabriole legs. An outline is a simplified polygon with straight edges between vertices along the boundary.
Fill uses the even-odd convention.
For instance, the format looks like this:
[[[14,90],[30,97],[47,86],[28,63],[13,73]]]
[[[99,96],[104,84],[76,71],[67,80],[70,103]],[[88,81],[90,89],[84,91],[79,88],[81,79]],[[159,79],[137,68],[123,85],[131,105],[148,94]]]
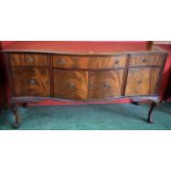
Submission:
[[[9,107],[45,99],[110,101],[130,98],[135,105],[162,101],[160,81],[167,51],[149,42],[19,41],[1,51],[9,81]]]

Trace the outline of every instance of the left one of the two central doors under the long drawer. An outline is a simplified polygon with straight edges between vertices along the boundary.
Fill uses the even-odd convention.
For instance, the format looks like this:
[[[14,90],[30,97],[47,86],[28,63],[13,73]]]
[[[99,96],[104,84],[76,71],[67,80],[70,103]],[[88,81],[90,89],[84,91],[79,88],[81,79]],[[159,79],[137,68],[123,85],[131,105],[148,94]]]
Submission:
[[[54,96],[65,99],[87,99],[88,72],[55,70]]]

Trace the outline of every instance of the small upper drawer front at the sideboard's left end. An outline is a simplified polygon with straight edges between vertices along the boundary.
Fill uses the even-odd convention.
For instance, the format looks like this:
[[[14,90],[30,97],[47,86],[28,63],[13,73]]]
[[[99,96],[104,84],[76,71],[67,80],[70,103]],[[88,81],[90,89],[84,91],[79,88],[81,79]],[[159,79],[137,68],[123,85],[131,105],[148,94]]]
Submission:
[[[32,54],[32,53],[11,53],[11,66],[49,66],[50,57],[47,54]]]

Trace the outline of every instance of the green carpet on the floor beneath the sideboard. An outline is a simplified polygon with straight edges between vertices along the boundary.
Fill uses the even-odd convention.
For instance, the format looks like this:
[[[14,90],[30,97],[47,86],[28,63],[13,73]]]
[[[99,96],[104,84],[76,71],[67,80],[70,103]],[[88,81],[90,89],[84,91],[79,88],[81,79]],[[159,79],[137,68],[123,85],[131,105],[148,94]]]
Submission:
[[[79,105],[19,108],[20,130],[159,130],[171,129],[171,104],[153,110],[153,124],[148,124],[149,106]],[[0,115],[0,129],[12,129],[11,111]]]

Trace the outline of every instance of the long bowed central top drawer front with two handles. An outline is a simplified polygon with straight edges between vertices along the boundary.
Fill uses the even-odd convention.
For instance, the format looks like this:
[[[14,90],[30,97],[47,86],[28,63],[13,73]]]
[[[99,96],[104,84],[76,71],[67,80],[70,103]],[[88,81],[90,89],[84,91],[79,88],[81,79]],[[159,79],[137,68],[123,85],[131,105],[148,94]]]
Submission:
[[[53,55],[53,67],[58,68],[120,68],[126,65],[126,56],[65,56]]]

